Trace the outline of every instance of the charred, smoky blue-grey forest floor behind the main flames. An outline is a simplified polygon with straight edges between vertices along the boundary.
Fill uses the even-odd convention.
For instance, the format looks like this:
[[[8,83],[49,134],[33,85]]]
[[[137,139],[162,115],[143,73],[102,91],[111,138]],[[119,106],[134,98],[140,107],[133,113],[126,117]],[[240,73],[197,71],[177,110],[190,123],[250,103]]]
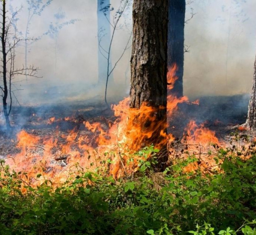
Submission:
[[[238,131],[239,125],[246,120],[249,95],[204,96],[199,100],[199,105],[179,104],[179,109],[168,120],[169,133],[181,139],[186,125],[190,120],[195,120],[196,123],[204,123],[205,127],[214,131],[219,141],[228,143],[230,133]],[[13,107],[13,129],[7,132],[1,128],[4,126],[4,121],[0,122],[2,124],[2,126],[0,124],[0,157],[20,152],[16,135],[22,129],[41,138],[57,134],[67,135],[72,129],[76,129],[78,137],[87,134],[95,138],[95,135],[92,135],[83,124],[84,121],[100,122],[103,129],[107,129],[108,124],[115,119],[113,110],[106,108],[102,101]],[[253,133],[249,131],[243,129],[239,131],[253,137]]]

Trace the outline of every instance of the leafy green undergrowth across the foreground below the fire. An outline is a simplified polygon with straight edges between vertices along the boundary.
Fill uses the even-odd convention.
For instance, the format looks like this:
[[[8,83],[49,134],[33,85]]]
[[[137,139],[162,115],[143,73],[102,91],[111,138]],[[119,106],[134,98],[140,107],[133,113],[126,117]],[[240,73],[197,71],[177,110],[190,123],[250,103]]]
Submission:
[[[244,160],[236,149],[219,149],[215,174],[184,172],[193,156],[159,174],[156,151],[137,153],[133,179],[79,171],[58,187],[45,180],[33,188],[1,160],[0,233],[256,234],[255,155]]]

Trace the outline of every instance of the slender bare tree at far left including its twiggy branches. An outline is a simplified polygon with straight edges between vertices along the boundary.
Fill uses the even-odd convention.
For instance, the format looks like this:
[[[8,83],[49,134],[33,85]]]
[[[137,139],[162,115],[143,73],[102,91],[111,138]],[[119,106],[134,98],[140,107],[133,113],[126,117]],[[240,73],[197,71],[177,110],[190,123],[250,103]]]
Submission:
[[[14,21],[17,18],[18,11],[14,12],[10,17],[7,16],[6,0],[2,0],[2,22],[1,22],[1,81],[0,84],[1,96],[3,97],[3,109],[6,118],[6,125],[8,128],[11,127],[9,115],[12,109],[12,90],[13,79],[17,75],[29,75],[36,76],[37,68],[30,67],[15,67],[15,48],[17,44],[22,40],[17,37],[16,29],[13,27]],[[7,100],[10,98],[10,105],[8,109]]]

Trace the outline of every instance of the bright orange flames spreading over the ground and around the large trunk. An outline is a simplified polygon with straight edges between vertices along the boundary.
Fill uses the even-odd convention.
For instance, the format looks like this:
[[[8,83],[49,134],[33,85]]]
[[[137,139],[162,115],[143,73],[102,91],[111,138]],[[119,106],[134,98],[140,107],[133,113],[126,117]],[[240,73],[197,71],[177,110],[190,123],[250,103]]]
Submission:
[[[177,80],[176,70],[176,65],[169,68],[167,74],[169,90],[174,87]],[[189,103],[186,96],[176,97],[169,94],[167,98],[168,117],[178,109],[179,103]],[[199,100],[192,104],[198,105]],[[164,107],[156,108],[143,103],[140,109],[131,109],[129,98],[124,98],[117,105],[112,105],[112,109],[114,121],[105,120],[104,123],[81,121],[86,129],[83,134],[77,129],[68,133],[62,133],[57,129],[55,134],[39,137],[22,130],[17,135],[17,147],[21,148],[21,152],[10,156],[7,163],[17,171],[25,170],[26,177],[32,185],[38,185],[45,179],[51,179],[56,183],[62,182],[70,174],[75,175],[77,163],[83,169],[108,167],[108,172],[118,177],[124,172],[131,173],[137,169],[140,158],[134,153],[151,144],[151,139],[158,139],[155,147],[161,148],[162,145],[167,144],[167,141],[170,143],[175,138],[172,133],[166,133],[168,127],[166,120],[158,120],[156,113]],[[51,117],[48,123],[59,120],[69,121],[70,118]],[[190,143],[218,143],[214,132],[203,124],[197,125],[195,121],[190,121],[185,131],[188,134],[187,141]],[[133,162],[127,163],[131,156]],[[44,178],[37,178],[39,173],[44,175]]]

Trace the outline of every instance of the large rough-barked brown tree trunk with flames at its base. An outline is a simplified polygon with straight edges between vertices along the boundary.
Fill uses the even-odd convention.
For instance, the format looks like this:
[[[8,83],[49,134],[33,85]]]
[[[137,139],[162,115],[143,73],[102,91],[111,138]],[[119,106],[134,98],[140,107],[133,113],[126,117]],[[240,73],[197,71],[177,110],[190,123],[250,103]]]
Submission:
[[[160,148],[158,170],[166,167],[167,154],[167,30],[168,0],[136,0],[133,4],[130,107],[152,107],[141,121],[145,145]],[[136,119],[136,118],[135,118]],[[142,133],[143,134],[143,133]]]

